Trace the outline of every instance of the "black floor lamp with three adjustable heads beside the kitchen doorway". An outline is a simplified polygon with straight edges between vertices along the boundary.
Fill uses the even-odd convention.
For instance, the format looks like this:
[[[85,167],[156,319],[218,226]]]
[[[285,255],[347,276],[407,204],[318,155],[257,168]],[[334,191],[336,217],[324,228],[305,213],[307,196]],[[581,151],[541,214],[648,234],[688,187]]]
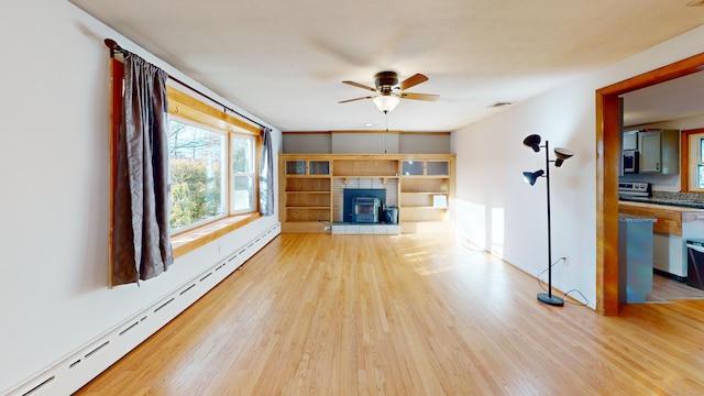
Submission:
[[[546,188],[548,195],[548,293],[538,293],[538,300],[540,302],[562,307],[564,305],[564,300],[560,297],[552,295],[552,241],[550,237],[550,163],[554,163],[556,167],[562,166],[564,160],[574,155],[571,151],[566,148],[556,148],[554,155],[556,160],[550,160],[550,144],[546,141],[544,145],[540,145],[541,138],[537,134],[531,134],[528,138],[524,139],[524,144],[531,147],[536,153],[540,152],[540,147],[546,148],[546,168],[539,169],[536,172],[524,172],[524,180],[529,185],[535,185],[538,180],[538,177],[546,178]]]

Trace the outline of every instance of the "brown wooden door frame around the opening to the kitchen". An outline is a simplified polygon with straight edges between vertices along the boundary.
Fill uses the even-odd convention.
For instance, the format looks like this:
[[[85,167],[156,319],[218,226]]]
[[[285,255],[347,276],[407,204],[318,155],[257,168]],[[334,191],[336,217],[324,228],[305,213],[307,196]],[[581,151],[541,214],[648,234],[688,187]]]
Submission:
[[[596,90],[596,311],[618,315],[619,95],[704,70],[704,53]]]

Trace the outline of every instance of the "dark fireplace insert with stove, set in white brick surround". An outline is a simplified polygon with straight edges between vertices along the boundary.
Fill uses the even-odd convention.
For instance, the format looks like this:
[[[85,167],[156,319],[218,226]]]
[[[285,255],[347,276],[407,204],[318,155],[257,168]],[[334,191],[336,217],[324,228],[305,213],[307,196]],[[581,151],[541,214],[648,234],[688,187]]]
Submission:
[[[343,218],[350,223],[378,223],[384,219],[386,190],[383,188],[345,188]]]

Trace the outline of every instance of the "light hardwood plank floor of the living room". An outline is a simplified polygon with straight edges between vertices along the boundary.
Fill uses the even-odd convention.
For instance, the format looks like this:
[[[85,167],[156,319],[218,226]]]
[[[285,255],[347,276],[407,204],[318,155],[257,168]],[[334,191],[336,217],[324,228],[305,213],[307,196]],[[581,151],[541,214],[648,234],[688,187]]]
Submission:
[[[77,395],[704,395],[704,301],[538,292],[451,234],[284,234]]]

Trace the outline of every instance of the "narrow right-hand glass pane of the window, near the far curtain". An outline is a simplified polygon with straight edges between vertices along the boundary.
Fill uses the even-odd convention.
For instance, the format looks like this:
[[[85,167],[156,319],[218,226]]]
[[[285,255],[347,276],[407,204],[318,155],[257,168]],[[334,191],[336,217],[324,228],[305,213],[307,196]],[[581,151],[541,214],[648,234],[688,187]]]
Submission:
[[[232,212],[252,211],[256,209],[256,191],[254,185],[254,138],[232,135]]]

